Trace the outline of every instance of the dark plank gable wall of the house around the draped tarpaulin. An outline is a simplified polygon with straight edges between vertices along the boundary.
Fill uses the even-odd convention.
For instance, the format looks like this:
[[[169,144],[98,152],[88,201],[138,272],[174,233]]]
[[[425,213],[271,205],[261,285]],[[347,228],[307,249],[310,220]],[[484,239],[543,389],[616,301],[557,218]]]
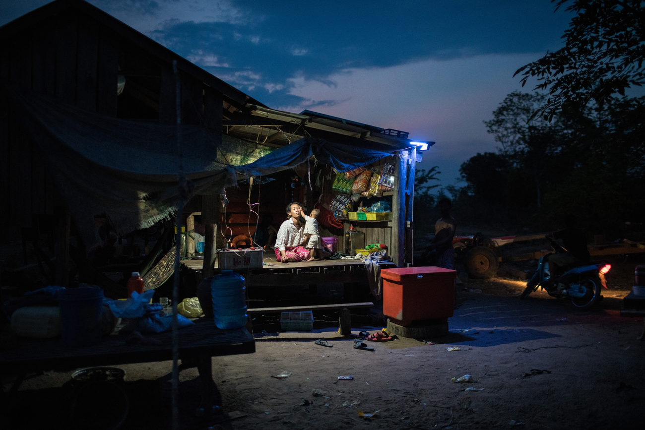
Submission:
[[[14,34],[15,43],[0,46],[0,78],[37,93],[56,97],[86,110],[117,116],[116,83],[119,55],[150,59],[160,76],[159,121],[175,123],[175,75],[171,63],[150,52],[137,54],[137,45],[121,41],[112,29],[88,16],[66,13],[24,28]],[[120,48],[123,44],[123,50]],[[132,54],[134,52],[134,54]],[[146,60],[147,61],[147,60]],[[222,95],[186,72],[181,72],[182,122],[204,124],[221,141]],[[0,212],[10,240],[19,239],[20,227],[28,227],[32,214],[53,214],[54,184],[46,175],[45,157],[23,130],[5,98],[0,99]],[[217,139],[219,137],[219,139]]]

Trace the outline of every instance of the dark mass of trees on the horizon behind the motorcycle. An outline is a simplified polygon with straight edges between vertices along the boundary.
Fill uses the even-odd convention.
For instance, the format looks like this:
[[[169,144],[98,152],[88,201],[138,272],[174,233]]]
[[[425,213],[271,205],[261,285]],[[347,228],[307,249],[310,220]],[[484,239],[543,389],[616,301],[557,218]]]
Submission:
[[[543,100],[510,93],[484,121],[501,147],[461,165],[466,186],[457,206],[471,211],[460,219],[544,231],[575,213],[590,231],[609,235],[642,220],[645,97],[568,106],[551,122],[530,115]]]

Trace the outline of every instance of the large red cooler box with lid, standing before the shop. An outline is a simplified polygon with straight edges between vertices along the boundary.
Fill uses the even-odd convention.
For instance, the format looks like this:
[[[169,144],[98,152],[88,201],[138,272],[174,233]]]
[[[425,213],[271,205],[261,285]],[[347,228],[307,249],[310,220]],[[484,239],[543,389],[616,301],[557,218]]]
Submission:
[[[452,317],[457,271],[435,266],[382,269],[383,313],[406,326]]]

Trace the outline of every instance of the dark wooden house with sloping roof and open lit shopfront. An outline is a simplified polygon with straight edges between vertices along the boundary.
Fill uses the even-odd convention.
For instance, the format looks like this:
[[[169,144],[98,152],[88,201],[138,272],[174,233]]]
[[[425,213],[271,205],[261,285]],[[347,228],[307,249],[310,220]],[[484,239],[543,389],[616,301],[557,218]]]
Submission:
[[[309,208],[317,202],[304,178],[312,166],[319,170],[315,154],[324,142],[344,148],[332,156],[346,157],[342,166],[373,163],[374,153],[392,163],[392,219],[357,224],[367,243],[388,243],[395,264],[412,262],[413,180],[421,154],[406,133],[273,110],[82,0],[56,0],[0,27],[0,42],[3,242],[49,235],[57,284],[69,282],[70,236],[90,246],[104,219],[119,235],[150,226],[173,215],[178,196],[187,200],[179,221],[199,214],[206,226],[208,272],[217,231],[243,231],[245,222],[255,228],[257,219],[245,213],[257,211],[238,203],[257,192],[244,185],[257,172],[273,180],[263,188],[272,191],[261,215],[284,216],[281,208],[292,200]],[[300,168],[239,168],[276,150],[304,147],[315,151],[299,159]],[[222,190],[241,200],[228,215]],[[326,234],[344,240],[348,221]]]

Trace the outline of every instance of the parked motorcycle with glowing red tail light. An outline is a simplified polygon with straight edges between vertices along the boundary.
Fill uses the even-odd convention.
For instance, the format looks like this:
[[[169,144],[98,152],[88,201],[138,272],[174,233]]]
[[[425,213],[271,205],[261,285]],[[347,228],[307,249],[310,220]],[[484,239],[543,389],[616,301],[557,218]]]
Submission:
[[[554,253],[566,253],[567,250],[555,240],[549,240],[554,251],[541,257],[520,298],[526,298],[533,291],[542,288],[550,296],[570,298],[571,304],[578,309],[590,309],[602,297],[601,286],[607,289],[604,275],[610,271],[611,264],[585,263],[569,268],[561,276],[551,279],[549,257]]]

